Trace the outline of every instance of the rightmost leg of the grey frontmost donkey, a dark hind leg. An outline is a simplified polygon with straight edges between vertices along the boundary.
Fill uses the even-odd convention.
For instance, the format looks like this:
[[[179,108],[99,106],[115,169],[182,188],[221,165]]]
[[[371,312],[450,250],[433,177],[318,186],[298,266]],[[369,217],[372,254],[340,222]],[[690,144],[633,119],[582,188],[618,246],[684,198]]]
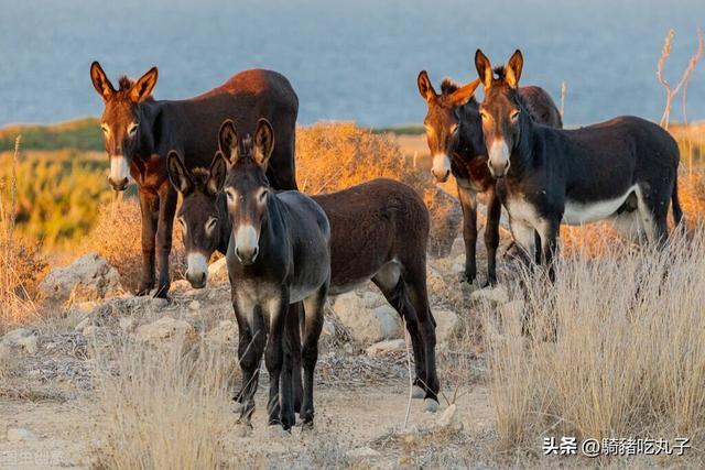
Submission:
[[[304,428],[313,426],[313,374],[318,362],[318,338],[323,330],[323,307],[328,294],[328,283],[326,282],[317,293],[304,299],[305,310],[305,332],[302,351],[302,362],[304,365],[304,395],[301,406],[301,419]]]

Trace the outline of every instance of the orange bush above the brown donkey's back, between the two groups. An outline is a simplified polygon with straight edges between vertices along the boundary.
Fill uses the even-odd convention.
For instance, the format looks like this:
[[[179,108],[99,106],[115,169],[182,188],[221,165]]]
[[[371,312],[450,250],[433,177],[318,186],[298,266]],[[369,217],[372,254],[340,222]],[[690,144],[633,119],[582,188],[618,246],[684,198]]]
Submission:
[[[333,193],[381,177],[402,181],[420,192],[429,184],[429,176],[413,167],[388,134],[352,123],[296,129],[296,179],[302,192]]]

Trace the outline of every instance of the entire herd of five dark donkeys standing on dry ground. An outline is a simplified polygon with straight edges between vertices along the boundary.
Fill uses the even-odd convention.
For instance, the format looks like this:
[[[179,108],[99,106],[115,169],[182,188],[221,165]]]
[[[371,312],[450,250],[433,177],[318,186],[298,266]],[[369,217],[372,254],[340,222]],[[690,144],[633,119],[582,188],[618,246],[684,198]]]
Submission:
[[[551,281],[561,223],[611,219],[630,237],[665,241],[670,201],[676,226],[682,218],[679,149],[666,131],[636,117],[564,130],[543,89],[519,87],[519,51],[506,66],[492,68],[478,50],[475,65],[478,79],[464,86],[446,79],[441,94],[425,70],[417,78],[427,103],[433,176],[457,181],[466,249],[463,281],[471,283],[477,274],[478,193],[487,193],[489,201],[489,284],[497,282],[502,206],[516,243],[529,253],[524,261],[544,264]],[[194,287],[206,285],[214,251],[227,258],[242,370],[234,398],[240,423],[250,424],[264,354],[269,424],[290,429],[299,413],[304,427],[313,425],[326,296],[366,281],[377,285],[406,325],[415,363],[413,396],[424,398],[427,409],[437,408],[435,321],[426,291],[430,216],[411,187],[375,179],[335,194],[299,193],[299,99],[275,72],[242,72],[178,101],[152,98],[155,67],[138,80],[120,78],[118,89],[97,62],[90,77],[105,101],[110,185],[122,190],[131,177],[139,187],[143,271],[138,295],[165,297],[169,292],[174,218]],[[478,102],[474,94],[480,84],[484,100]]]

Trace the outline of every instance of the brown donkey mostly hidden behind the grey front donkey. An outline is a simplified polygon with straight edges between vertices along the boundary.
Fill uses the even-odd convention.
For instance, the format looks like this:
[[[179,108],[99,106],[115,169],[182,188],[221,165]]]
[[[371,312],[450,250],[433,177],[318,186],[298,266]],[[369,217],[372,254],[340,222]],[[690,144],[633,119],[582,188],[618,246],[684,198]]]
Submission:
[[[226,198],[217,192],[224,172],[218,159],[209,170],[188,171],[178,155],[169,156],[170,178],[183,198],[177,217],[184,227],[188,280],[196,288],[206,285],[207,260],[214,251],[226,253],[230,240]],[[426,409],[436,409],[435,321],[426,291],[430,218],[423,200],[408,185],[391,179],[373,179],[313,199],[330,221],[329,294],[351,291],[369,280],[379,287],[411,336],[414,397],[425,398]],[[299,393],[296,380],[294,375]],[[241,397],[240,393],[236,398]]]

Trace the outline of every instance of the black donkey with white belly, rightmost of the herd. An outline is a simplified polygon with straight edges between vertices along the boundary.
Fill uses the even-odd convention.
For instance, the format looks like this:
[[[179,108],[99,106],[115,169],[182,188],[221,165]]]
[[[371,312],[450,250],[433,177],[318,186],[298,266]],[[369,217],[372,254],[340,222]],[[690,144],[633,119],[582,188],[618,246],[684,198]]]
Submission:
[[[549,265],[551,280],[562,222],[612,219],[622,231],[646,232],[654,243],[668,238],[669,201],[675,225],[681,222],[680,153],[671,134],[631,116],[577,130],[542,125],[518,92],[520,51],[496,75],[480,50],[475,65],[485,87],[480,117],[489,171],[501,178],[500,197],[517,242],[533,253],[539,232],[539,262],[543,258]]]

